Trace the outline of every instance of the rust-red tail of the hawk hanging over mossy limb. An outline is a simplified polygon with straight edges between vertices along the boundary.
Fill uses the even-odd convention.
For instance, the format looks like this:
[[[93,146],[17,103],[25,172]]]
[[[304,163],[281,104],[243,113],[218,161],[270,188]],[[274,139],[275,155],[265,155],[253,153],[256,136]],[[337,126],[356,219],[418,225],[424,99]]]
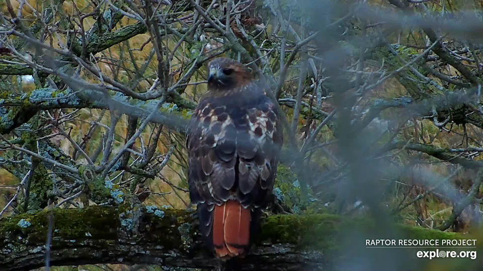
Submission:
[[[250,209],[234,200],[215,205],[213,245],[218,257],[244,255],[250,242]]]

